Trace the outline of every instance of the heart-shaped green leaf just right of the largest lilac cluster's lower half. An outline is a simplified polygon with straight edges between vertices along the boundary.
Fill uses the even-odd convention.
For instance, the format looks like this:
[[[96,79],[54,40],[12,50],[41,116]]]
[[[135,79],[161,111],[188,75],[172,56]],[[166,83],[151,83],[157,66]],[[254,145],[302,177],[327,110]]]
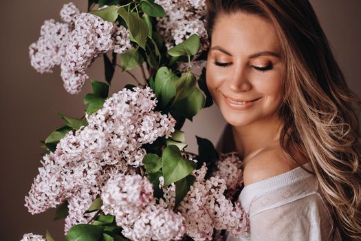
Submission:
[[[175,145],[164,149],[162,160],[164,186],[188,176],[197,167],[192,160],[184,158]]]

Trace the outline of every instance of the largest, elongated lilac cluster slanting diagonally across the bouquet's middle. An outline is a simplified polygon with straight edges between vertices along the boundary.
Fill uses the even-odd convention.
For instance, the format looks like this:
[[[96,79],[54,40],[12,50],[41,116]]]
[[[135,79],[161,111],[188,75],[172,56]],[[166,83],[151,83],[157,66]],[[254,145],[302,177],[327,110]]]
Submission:
[[[174,132],[175,119],[155,112],[157,100],[149,87],[123,89],[105,101],[102,109],[86,116],[89,125],[69,132],[56,151],[43,158],[25,206],[41,213],[67,200],[65,231],[85,223],[83,213],[113,174],[135,174],[142,165],[145,143]]]

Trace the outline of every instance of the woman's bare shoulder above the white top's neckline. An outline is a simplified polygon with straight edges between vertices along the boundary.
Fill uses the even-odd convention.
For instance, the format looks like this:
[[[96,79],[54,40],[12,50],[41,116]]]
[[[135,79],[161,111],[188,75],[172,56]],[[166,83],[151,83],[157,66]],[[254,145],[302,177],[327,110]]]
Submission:
[[[243,168],[245,186],[291,171],[296,164],[279,149],[265,149],[248,160]]]

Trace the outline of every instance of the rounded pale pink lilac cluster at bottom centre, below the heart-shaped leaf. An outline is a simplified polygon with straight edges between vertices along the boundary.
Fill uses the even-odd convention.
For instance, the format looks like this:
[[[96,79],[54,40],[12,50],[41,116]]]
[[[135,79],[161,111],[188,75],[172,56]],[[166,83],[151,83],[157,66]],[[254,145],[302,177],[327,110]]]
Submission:
[[[142,176],[113,176],[101,198],[102,210],[116,217],[122,234],[131,240],[179,240],[185,233],[184,217],[157,205],[153,185]]]

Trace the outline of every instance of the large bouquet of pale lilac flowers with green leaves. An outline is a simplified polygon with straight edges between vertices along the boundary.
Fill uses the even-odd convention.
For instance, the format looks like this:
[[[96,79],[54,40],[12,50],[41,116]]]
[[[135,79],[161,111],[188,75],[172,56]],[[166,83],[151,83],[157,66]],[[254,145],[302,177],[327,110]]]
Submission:
[[[43,142],[43,166],[25,197],[32,214],[57,208],[67,240],[249,235],[248,214],[234,202],[243,182],[237,153],[218,154],[197,137],[199,153],[191,154],[181,130],[212,105],[205,68],[192,72],[204,65],[209,45],[204,8],[199,0],[99,0],[80,12],[68,3],[63,23],[45,21],[30,45],[32,66],[45,73],[60,65],[70,94],[81,91],[94,59],[105,63],[107,83],[91,81],[85,116],[59,114],[65,125]],[[132,78],[139,67],[144,83],[135,78],[137,86],[109,96],[116,67]],[[28,233],[22,240],[45,239]]]

